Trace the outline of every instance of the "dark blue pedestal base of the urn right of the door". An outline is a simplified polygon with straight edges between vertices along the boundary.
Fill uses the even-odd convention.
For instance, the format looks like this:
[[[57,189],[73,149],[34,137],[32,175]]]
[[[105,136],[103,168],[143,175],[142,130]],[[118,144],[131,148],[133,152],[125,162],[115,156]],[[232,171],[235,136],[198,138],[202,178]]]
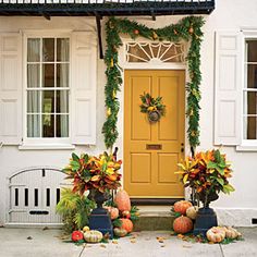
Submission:
[[[196,219],[195,219],[195,225],[194,225],[194,234],[203,234],[206,236],[206,232],[212,228],[217,227],[217,215],[213,211],[213,209],[209,207],[200,208],[197,212]]]

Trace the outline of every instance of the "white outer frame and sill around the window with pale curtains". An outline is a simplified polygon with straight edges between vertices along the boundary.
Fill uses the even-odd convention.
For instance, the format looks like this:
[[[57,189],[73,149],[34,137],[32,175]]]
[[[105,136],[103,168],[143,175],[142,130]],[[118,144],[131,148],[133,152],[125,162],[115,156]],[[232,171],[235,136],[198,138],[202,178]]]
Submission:
[[[28,38],[69,38],[70,40],[70,69],[69,69],[69,137],[53,137],[53,138],[44,138],[44,137],[27,137],[27,39]],[[71,127],[71,68],[72,68],[72,46],[71,46],[71,30],[25,30],[23,32],[23,142],[20,149],[30,149],[34,146],[38,147],[39,149],[44,149],[45,146],[49,148],[70,148],[72,147],[72,127]]]

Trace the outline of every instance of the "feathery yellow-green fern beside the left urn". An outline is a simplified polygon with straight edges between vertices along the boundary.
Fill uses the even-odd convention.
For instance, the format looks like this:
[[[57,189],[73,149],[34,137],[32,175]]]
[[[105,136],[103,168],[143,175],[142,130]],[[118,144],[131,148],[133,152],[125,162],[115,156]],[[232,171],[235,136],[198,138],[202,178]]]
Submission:
[[[62,216],[64,230],[71,233],[88,224],[88,216],[93,208],[95,208],[95,203],[86,196],[79,196],[70,188],[63,188],[57,212]]]

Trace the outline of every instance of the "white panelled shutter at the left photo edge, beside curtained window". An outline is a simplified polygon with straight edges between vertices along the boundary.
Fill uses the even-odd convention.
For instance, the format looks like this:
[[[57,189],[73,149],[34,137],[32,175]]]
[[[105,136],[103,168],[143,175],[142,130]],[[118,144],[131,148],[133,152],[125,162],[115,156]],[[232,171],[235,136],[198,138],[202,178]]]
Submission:
[[[22,35],[0,34],[0,143],[22,142]]]

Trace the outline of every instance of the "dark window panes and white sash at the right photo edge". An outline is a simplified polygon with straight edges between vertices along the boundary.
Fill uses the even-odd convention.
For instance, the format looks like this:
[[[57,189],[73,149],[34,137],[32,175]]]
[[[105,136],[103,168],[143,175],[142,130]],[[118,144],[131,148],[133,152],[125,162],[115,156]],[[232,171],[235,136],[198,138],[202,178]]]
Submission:
[[[244,139],[257,139],[257,39],[245,41]]]

